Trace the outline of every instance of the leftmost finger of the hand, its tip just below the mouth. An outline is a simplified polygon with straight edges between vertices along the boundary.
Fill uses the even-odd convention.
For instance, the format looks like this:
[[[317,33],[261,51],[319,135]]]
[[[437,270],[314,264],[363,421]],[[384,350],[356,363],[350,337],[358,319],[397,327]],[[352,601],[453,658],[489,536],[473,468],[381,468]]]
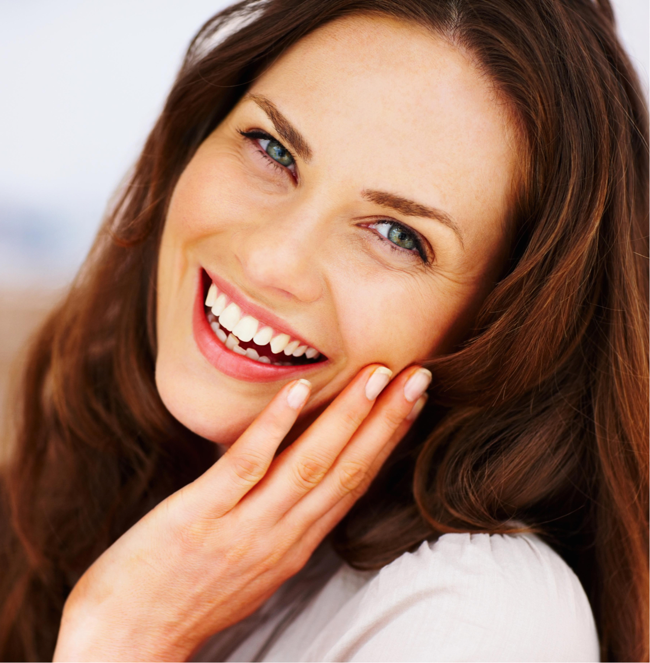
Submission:
[[[308,380],[285,385],[236,442],[195,481],[197,496],[210,516],[219,518],[230,511],[266,474],[278,447],[295,424],[309,394]]]

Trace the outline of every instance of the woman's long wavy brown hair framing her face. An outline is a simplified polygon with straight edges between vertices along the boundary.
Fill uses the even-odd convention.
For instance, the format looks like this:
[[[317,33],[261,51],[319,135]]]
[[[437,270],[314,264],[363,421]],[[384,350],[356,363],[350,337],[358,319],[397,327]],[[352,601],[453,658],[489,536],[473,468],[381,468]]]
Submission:
[[[444,532],[538,532],[588,591],[603,658],[647,659],[647,111],[608,1],[244,0],[191,43],[33,342],[2,483],[4,660],[49,659],[76,579],[213,461],[154,383],[169,198],[255,77],[354,13],[416,21],[472,52],[521,122],[527,167],[503,278],[471,338],[431,362],[430,406],[337,549],[377,568]]]

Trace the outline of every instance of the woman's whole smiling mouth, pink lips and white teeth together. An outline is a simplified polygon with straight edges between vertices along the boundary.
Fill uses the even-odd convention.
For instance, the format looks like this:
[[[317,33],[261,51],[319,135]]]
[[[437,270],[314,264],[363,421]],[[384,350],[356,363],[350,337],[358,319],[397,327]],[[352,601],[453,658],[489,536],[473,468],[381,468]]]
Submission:
[[[193,317],[201,353],[222,373],[238,379],[287,379],[327,361],[279,318],[246,302],[232,285],[204,270]]]

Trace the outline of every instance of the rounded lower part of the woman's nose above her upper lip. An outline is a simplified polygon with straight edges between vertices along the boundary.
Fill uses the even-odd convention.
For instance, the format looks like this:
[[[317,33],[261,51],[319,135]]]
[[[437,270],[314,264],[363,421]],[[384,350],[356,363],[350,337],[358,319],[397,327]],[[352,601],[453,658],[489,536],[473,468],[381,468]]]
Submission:
[[[300,302],[323,294],[323,218],[301,206],[278,213],[237,233],[234,251],[248,282],[258,290]],[[320,245],[320,246],[319,246]]]

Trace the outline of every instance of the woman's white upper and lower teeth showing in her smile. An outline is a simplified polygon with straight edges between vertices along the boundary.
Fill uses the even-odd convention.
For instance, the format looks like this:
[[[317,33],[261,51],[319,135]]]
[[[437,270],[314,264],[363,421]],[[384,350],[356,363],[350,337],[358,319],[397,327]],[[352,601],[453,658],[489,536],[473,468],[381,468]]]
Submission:
[[[291,340],[291,337],[285,333],[275,333],[274,330],[268,326],[260,326],[260,322],[253,316],[244,315],[242,317],[242,310],[234,302],[228,304],[228,299],[224,293],[219,294],[214,283],[210,284],[208,294],[205,298],[205,305],[212,310],[212,316],[208,316],[210,320],[210,327],[219,337],[226,347],[241,355],[246,355],[250,359],[268,363],[268,357],[259,357],[258,353],[249,348],[244,351],[239,345],[239,341],[252,341],[257,345],[266,345],[271,343],[271,351],[274,355],[284,350],[285,355],[293,357],[301,357],[303,354],[307,359],[315,359],[319,355],[319,351],[315,347],[301,344],[298,339]],[[218,323],[216,319],[218,318]],[[231,333],[226,336],[226,333],[220,329],[230,331]],[[255,355],[258,355],[257,357]],[[284,362],[282,362],[284,363]]]

